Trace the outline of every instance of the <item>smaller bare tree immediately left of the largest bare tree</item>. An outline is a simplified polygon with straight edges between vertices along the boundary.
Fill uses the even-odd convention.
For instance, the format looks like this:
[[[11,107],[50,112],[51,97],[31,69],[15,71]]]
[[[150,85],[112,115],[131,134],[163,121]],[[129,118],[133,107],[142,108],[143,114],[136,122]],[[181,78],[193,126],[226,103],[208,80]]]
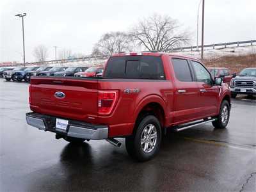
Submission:
[[[92,55],[106,56],[131,50],[131,36],[124,32],[106,33],[93,47]]]

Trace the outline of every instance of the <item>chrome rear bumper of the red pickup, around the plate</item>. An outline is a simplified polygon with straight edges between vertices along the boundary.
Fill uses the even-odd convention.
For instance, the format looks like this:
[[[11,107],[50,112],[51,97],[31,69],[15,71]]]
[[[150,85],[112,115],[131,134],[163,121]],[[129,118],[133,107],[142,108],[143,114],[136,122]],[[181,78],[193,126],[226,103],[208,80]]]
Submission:
[[[74,120],[68,120],[66,131],[56,129],[56,117],[41,115],[38,113],[26,113],[27,124],[44,131],[56,132],[74,138],[86,140],[105,140],[108,139],[107,125],[94,125]]]

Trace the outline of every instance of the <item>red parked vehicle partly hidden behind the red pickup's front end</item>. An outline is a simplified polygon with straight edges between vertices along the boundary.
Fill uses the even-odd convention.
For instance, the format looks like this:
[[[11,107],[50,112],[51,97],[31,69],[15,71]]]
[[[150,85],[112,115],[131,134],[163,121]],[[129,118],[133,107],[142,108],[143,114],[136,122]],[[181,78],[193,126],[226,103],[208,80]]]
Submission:
[[[236,74],[231,74],[230,70],[225,67],[209,67],[208,69],[211,72],[212,77],[223,78],[223,83],[230,84],[232,77],[236,76]]]

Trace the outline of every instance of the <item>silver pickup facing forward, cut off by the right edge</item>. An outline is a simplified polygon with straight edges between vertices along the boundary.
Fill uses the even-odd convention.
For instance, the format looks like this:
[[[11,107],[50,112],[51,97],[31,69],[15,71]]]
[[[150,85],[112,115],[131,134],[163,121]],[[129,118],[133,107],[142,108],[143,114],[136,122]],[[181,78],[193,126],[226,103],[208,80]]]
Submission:
[[[256,67],[244,68],[239,76],[230,81],[231,97],[237,94],[256,95]]]

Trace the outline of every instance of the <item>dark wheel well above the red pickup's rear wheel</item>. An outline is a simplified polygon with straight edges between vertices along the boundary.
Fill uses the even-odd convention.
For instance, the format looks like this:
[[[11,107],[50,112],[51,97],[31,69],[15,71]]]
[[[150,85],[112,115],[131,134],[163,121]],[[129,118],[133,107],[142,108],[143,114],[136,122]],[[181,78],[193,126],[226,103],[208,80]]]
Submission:
[[[144,106],[139,115],[136,118],[136,125],[140,123],[141,118],[144,118],[147,115],[154,115],[159,120],[161,127],[164,127],[165,118],[164,118],[164,109],[157,102],[150,102]]]

